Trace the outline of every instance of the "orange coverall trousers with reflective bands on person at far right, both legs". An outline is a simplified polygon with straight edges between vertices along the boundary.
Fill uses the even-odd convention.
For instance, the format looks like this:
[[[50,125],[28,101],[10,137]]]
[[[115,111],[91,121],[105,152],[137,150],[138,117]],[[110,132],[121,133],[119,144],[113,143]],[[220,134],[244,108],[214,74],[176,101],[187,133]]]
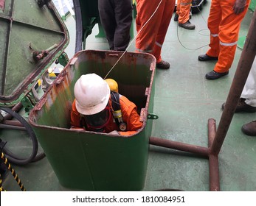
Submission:
[[[214,71],[224,73],[229,71],[238,43],[239,29],[243,17],[246,15],[250,0],[242,13],[234,13],[233,6],[236,0],[212,0],[208,28],[210,29],[210,49],[207,55],[218,57]]]

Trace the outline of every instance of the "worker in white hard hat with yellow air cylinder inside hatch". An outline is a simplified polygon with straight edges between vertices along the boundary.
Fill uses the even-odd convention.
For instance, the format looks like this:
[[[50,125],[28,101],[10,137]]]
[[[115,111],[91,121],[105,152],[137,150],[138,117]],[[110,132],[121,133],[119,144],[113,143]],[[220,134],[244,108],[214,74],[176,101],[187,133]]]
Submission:
[[[75,83],[71,129],[133,135],[141,127],[136,105],[118,93],[114,79],[82,75]]]

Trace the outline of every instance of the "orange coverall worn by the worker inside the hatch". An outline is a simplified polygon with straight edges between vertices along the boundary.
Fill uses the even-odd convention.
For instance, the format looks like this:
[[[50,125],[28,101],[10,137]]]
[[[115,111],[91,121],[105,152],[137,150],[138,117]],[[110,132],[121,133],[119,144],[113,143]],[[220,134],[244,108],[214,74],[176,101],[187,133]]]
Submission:
[[[111,99],[109,99],[109,103],[111,104]],[[114,121],[113,116],[111,116],[111,120],[109,124],[105,126],[105,132],[109,133],[114,130],[117,130],[120,135],[133,135],[137,132],[138,129],[142,127],[142,122],[139,121],[139,114],[136,112],[136,105],[129,101],[125,96],[120,95],[120,107],[122,111],[122,120],[127,124],[127,132],[119,131],[117,123]],[[71,125],[75,128],[83,128],[84,125],[81,125],[81,117],[80,113],[78,113],[77,108],[75,107],[75,100],[72,104],[71,111]]]

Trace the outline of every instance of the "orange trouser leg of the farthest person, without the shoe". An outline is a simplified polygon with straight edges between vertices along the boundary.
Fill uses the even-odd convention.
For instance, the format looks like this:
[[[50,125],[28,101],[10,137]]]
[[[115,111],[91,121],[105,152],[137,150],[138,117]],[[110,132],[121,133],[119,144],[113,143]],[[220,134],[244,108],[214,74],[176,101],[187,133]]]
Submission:
[[[192,0],[178,0],[176,13],[179,15],[179,24],[185,24],[190,20],[190,4]]]

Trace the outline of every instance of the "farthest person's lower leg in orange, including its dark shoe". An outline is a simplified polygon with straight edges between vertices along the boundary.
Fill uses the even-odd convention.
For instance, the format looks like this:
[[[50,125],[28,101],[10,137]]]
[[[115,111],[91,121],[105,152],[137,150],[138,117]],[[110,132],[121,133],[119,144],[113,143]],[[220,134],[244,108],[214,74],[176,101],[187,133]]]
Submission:
[[[195,29],[196,26],[190,23],[190,4],[192,0],[181,0],[179,8],[179,26],[184,29]]]

